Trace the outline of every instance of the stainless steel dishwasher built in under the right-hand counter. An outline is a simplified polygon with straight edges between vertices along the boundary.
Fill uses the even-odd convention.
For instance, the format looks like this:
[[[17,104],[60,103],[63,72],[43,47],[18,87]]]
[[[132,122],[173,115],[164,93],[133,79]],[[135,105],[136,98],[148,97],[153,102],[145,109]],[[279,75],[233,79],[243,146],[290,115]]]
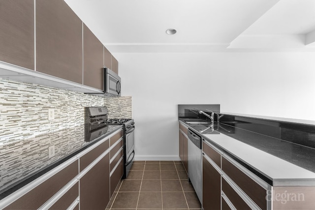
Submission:
[[[188,138],[188,176],[202,204],[202,139],[190,129]]]

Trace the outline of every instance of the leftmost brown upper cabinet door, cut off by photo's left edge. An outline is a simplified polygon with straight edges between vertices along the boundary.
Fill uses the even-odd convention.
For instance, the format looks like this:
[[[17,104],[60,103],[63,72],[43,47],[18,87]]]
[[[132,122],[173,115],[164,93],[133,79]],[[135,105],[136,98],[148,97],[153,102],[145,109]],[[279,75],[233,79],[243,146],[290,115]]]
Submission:
[[[0,0],[0,60],[34,70],[33,0]]]

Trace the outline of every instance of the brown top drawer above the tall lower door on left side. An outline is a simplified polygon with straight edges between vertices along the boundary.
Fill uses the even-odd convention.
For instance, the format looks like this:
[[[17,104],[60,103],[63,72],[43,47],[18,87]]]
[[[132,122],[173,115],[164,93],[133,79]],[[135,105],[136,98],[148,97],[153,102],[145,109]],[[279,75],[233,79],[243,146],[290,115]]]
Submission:
[[[95,147],[82,157],[80,157],[80,172],[92,163],[99,155],[109,148],[109,141],[106,140],[102,144]]]

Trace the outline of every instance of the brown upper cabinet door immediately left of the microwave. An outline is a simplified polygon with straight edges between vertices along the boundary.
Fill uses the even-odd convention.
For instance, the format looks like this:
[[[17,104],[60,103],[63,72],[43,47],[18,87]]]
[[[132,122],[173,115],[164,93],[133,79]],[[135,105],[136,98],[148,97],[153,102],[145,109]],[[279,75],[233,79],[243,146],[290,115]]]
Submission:
[[[83,85],[104,90],[103,44],[83,24]]]

